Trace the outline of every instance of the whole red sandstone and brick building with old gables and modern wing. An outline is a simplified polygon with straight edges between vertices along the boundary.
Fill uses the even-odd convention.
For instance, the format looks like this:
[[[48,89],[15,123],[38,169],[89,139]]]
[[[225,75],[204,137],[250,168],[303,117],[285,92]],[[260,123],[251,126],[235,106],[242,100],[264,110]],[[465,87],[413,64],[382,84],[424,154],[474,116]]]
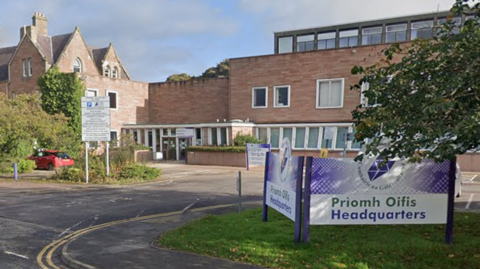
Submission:
[[[35,13],[20,30],[16,47],[0,49],[0,89],[9,96],[37,90],[51,66],[78,72],[86,95],[109,95],[112,137],[132,134],[168,159],[183,159],[187,145],[229,145],[248,133],[278,148],[289,137],[296,154],[358,153],[345,141],[353,133],[351,111],[362,103],[350,85],[354,65],[379,61],[391,43],[431,38],[447,13],[350,23],[275,33],[274,54],[230,59],[229,78],[143,83],[130,80],[112,45],[88,46],[80,31],[48,36],[47,20]],[[459,26],[469,17],[453,18]],[[192,135],[184,135],[191,130]],[[331,139],[326,139],[331,138]],[[473,170],[477,156],[459,158]],[[480,160],[479,160],[480,161]],[[472,169],[469,169],[472,168]]]

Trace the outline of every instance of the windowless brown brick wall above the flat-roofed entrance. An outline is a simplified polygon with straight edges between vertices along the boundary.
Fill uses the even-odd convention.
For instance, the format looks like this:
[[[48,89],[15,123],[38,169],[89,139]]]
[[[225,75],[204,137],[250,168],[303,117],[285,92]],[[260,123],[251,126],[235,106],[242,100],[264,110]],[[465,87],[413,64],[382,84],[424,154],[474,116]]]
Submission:
[[[228,118],[228,79],[149,85],[150,123],[180,124]]]

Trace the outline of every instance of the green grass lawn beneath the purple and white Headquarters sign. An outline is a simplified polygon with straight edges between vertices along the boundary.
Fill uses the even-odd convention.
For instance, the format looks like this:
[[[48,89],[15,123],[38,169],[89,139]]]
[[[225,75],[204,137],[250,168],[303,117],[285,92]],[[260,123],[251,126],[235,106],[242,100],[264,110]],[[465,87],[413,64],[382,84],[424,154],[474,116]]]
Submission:
[[[164,234],[158,245],[274,268],[480,268],[480,214],[455,213],[445,225],[311,226],[293,243],[293,222],[269,209],[207,216]]]

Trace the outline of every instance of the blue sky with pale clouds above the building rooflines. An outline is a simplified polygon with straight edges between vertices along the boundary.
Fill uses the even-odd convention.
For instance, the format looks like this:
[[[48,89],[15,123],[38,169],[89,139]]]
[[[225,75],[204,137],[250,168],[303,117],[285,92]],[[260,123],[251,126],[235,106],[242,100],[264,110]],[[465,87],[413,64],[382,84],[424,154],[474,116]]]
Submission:
[[[17,45],[34,12],[49,35],[77,26],[88,45],[113,44],[131,79],[198,76],[226,58],[272,54],[274,32],[435,13],[454,0],[0,0],[0,46]]]

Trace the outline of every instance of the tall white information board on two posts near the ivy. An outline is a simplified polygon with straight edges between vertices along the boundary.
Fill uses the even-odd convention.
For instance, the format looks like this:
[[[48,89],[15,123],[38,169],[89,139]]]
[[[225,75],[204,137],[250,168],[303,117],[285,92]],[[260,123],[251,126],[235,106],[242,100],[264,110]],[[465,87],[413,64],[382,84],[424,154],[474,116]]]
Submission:
[[[110,141],[110,97],[82,97],[82,141]]]

